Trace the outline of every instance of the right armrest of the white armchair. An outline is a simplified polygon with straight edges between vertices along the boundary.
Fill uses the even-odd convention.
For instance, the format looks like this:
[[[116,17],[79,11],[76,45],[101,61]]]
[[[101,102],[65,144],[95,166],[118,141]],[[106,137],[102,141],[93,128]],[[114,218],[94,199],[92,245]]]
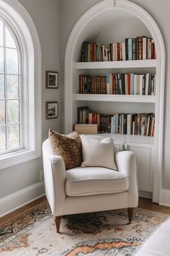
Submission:
[[[131,151],[119,151],[115,154],[118,171],[128,176],[130,202],[138,206],[138,180],[136,158]],[[133,206],[134,207],[134,206]]]

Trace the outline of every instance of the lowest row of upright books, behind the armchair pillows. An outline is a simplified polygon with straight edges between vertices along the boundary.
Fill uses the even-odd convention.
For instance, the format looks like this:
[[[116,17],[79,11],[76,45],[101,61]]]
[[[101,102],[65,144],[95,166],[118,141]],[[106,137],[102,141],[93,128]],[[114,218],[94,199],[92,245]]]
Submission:
[[[119,135],[154,136],[155,115],[142,114],[99,114],[88,107],[78,108],[78,124],[97,124],[99,133]]]

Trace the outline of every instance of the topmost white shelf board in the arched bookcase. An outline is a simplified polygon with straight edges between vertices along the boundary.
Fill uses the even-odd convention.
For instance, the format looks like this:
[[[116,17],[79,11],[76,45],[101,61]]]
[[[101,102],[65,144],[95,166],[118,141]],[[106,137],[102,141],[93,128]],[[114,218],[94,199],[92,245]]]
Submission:
[[[76,62],[76,69],[124,69],[124,68],[145,68],[156,67],[156,59],[136,61],[94,61]]]

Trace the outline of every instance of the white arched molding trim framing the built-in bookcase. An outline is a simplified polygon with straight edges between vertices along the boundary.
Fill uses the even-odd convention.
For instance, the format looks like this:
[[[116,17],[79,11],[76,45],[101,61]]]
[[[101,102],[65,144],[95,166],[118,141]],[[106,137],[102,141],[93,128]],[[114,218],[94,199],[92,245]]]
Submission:
[[[81,18],[76,22],[68,38],[65,54],[65,133],[68,134],[73,126],[73,70],[74,66],[74,53],[76,45],[81,41],[81,35],[84,29],[90,26],[91,21],[98,17],[100,14],[109,10],[119,9],[128,12],[135,17],[138,17],[141,22],[150,31],[153,40],[156,44],[157,64],[156,64],[156,136],[153,149],[154,164],[153,164],[153,202],[159,202],[161,191],[161,175],[162,175],[162,150],[163,150],[163,132],[164,132],[164,76],[165,76],[165,47],[161,31],[156,25],[148,12],[127,0],[104,0],[99,4],[91,7],[85,12]]]

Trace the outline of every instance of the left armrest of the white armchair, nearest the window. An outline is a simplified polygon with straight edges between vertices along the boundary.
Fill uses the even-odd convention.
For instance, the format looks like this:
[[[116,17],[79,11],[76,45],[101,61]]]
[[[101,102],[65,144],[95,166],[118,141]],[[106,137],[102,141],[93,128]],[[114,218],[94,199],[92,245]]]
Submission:
[[[66,198],[65,181],[66,168],[63,158],[53,155],[50,140],[42,144],[42,156],[44,166],[45,194],[48,198],[53,216],[63,214],[63,200]],[[58,206],[56,208],[56,205]]]

